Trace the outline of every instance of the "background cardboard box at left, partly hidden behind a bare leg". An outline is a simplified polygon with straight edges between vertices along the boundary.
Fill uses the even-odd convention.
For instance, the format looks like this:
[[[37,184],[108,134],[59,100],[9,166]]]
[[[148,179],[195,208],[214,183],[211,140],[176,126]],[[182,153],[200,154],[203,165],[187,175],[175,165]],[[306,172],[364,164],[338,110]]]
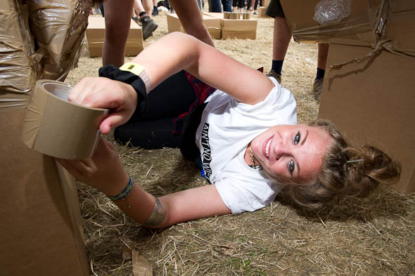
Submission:
[[[90,16],[87,27],[87,41],[90,57],[102,56],[103,41],[106,34],[105,18],[101,16]],[[125,46],[126,56],[135,56],[143,51],[143,31],[141,27],[131,20],[127,44]]]

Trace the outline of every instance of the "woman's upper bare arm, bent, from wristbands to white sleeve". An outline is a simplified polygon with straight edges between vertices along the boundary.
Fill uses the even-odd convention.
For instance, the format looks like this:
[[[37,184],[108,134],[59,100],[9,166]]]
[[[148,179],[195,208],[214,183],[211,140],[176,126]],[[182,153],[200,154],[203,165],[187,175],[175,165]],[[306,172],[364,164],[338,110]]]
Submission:
[[[139,53],[133,62],[146,68],[153,87],[172,74],[186,70],[242,103],[259,103],[274,87],[261,72],[181,32],[162,37]]]

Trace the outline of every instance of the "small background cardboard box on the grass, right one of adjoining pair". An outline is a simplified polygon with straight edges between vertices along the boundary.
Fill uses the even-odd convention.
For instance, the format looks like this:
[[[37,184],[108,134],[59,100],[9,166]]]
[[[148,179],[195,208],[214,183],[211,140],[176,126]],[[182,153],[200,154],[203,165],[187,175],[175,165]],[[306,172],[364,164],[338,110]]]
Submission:
[[[256,39],[256,19],[224,19],[223,13],[205,13],[220,18],[222,39]]]

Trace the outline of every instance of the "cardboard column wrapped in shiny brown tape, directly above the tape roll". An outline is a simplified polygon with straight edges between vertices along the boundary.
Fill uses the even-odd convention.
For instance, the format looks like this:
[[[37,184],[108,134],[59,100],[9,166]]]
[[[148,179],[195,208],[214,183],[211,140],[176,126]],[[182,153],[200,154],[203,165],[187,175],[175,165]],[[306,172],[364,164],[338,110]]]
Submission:
[[[21,1],[18,1],[21,2]],[[27,0],[30,30],[39,45],[41,79],[64,81],[77,65],[92,1]]]

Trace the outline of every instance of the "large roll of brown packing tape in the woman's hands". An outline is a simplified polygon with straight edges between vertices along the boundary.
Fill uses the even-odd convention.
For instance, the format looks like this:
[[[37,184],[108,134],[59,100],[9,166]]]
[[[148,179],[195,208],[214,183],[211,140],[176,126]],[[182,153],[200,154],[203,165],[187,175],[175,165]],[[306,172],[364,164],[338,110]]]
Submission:
[[[108,110],[68,102],[70,89],[59,81],[36,82],[23,123],[28,147],[63,159],[85,159],[94,153],[98,127]]]

